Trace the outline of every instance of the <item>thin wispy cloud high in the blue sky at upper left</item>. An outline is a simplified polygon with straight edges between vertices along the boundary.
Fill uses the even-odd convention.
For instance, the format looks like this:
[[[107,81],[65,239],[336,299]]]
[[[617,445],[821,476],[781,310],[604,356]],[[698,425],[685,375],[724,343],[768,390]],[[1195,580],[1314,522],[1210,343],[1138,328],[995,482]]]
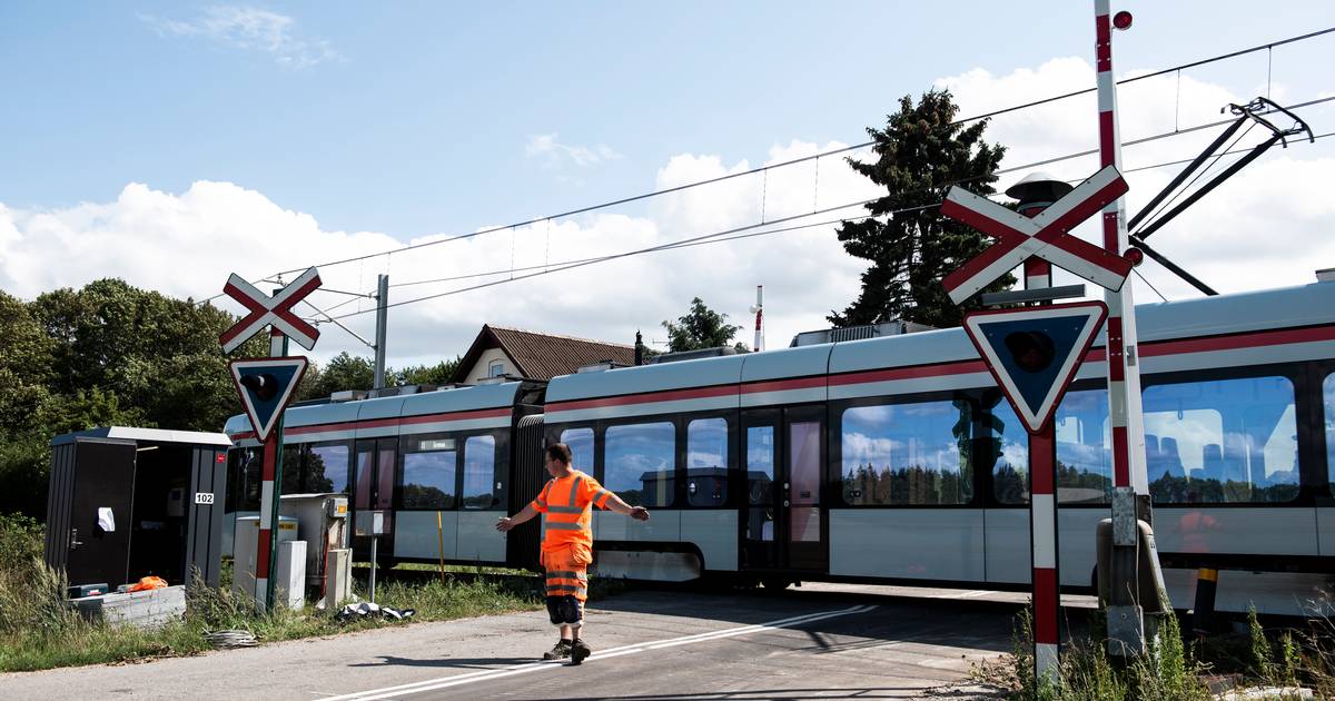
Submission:
[[[154,15],[140,19],[162,35],[203,36],[243,51],[259,51],[290,68],[307,68],[324,61],[342,60],[324,39],[298,39],[292,35],[296,20],[267,9],[246,5],[214,5],[195,20],[171,20]]]

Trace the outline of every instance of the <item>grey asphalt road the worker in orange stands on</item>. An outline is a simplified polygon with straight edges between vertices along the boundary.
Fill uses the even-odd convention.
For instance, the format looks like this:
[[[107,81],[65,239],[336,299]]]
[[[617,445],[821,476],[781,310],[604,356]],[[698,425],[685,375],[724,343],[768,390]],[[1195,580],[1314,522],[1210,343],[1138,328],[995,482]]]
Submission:
[[[968,686],[971,664],[1011,649],[1024,598],[833,585],[768,596],[641,590],[590,605],[594,654],[581,666],[537,661],[555,633],[533,612],[4,674],[0,697],[971,698],[980,693]]]

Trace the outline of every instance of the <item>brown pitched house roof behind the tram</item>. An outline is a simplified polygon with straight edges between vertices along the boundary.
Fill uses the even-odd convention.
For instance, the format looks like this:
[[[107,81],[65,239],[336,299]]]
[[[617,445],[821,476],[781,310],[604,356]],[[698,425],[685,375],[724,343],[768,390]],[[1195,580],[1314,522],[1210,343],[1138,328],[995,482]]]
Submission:
[[[539,334],[522,328],[483,324],[478,338],[454,371],[453,382],[467,382],[467,374],[478,365],[478,358],[489,348],[501,348],[514,363],[514,370],[530,379],[551,379],[569,375],[581,366],[611,361],[634,365],[635,347],[586,338]],[[515,373],[510,373],[515,374]]]

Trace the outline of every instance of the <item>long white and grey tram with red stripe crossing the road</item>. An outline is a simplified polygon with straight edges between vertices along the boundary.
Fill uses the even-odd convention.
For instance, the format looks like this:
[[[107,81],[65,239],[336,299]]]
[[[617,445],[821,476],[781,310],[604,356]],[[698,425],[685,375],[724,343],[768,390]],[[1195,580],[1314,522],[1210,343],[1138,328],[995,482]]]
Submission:
[[[1335,571],[1335,283],[1136,319],[1169,596],[1191,601],[1211,566],[1220,610],[1303,613]],[[1068,590],[1092,586],[1109,510],[1104,377],[1096,340],[1056,414]],[[534,566],[538,525],[493,525],[537,494],[541,446],[562,441],[654,514],[595,513],[601,575],[1029,583],[1024,426],[960,328],[296,406],[286,426],[283,493],[392,511],[379,551],[395,561]],[[235,513],[259,501],[248,430],[227,423]]]

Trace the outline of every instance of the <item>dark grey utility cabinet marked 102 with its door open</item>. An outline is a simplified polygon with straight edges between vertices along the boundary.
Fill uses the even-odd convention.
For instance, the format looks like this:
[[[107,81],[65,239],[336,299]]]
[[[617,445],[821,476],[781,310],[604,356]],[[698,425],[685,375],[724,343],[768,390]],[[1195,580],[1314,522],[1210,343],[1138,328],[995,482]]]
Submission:
[[[69,585],[142,577],[218,585],[227,489],[224,434],[111,426],[51,441],[47,565]]]

